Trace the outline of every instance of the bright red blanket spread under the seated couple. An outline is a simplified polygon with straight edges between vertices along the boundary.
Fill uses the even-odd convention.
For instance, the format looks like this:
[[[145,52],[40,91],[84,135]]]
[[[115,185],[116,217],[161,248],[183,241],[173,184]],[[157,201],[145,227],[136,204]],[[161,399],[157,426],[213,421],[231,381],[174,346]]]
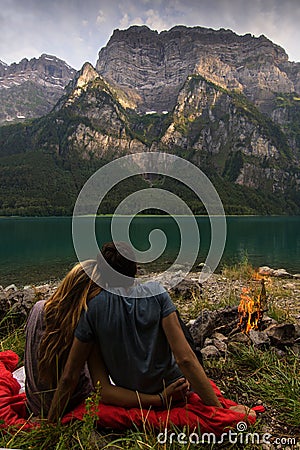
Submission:
[[[19,394],[20,385],[12,375],[17,363],[18,356],[14,352],[10,350],[0,352],[0,426],[6,428],[15,425],[29,429],[36,424],[28,420],[26,396]],[[201,433],[211,432],[220,435],[240,421],[255,422],[255,419],[251,417],[247,418],[244,414],[228,409],[236,403],[225,399],[216,385],[213,382],[211,384],[224,408],[204,405],[195,393],[189,395],[186,404],[176,404],[168,411],[121,408],[100,403],[97,412],[98,424],[101,428],[114,430],[132,428],[133,424],[138,428],[149,426],[152,429],[163,430],[170,428],[173,424],[178,428],[189,427],[189,430],[200,429]],[[85,412],[85,405],[80,404],[71,413],[66,414],[62,422],[68,423],[73,419],[82,420]]]

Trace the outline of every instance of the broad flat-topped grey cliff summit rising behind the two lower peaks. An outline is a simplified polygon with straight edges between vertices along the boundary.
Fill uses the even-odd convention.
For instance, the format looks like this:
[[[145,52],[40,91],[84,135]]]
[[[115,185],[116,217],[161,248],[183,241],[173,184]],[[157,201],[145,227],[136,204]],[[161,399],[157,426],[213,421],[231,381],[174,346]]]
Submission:
[[[274,93],[299,91],[300,76],[299,64],[265,36],[183,26],[161,33],[146,26],[116,30],[96,70],[129,90],[141,112],[171,110],[191,74],[237,89],[268,112]]]

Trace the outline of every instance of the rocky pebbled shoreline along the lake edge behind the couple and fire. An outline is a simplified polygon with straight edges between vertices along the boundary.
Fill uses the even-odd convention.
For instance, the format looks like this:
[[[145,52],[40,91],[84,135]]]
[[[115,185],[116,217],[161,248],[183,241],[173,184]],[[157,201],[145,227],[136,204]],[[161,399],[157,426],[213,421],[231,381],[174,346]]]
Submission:
[[[272,269],[267,266],[260,267],[258,273],[264,275],[270,281],[270,302],[273,308],[282,308],[287,313],[287,319],[300,322],[300,274],[290,274],[285,269]],[[158,273],[141,275],[141,279],[157,276]],[[212,274],[206,281],[199,283],[200,272],[190,272],[175,287],[174,278],[183,278],[183,272],[166,274],[162,284],[169,290],[172,298],[180,310],[183,320],[188,323],[195,319],[197,307],[216,309],[216,307],[238,305],[245,281],[234,279],[223,274]],[[42,299],[47,299],[57,288],[59,281],[42,285],[28,285],[18,288],[11,284],[0,286],[0,321],[3,323],[12,320],[16,325],[26,319],[33,304]],[[268,283],[269,284],[269,283]],[[225,305],[224,305],[225,302]],[[201,306],[202,305],[202,306]],[[197,306],[197,307],[196,307]]]

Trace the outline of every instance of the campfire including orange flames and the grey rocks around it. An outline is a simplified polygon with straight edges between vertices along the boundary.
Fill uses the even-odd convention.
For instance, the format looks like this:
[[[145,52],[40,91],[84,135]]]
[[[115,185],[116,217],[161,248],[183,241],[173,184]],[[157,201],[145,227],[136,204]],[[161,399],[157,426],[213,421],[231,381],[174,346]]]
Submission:
[[[222,286],[220,280],[220,286]],[[226,357],[227,352],[240,352],[243,346],[253,345],[259,350],[274,348],[279,356],[291,348],[300,354],[300,326],[279,323],[267,314],[273,302],[271,276],[256,273],[247,287],[236,284],[239,289],[239,305],[219,309],[204,308],[189,324],[189,331],[196,349],[203,360]]]

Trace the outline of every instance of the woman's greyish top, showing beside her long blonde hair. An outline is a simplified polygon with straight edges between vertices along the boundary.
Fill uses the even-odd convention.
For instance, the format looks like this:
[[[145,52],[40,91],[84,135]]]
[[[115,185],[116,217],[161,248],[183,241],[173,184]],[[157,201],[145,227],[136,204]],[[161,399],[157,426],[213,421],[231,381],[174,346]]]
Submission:
[[[54,390],[38,380],[38,352],[45,331],[44,323],[45,300],[37,302],[31,309],[26,323],[25,343],[25,392],[27,405],[35,416],[47,417],[54,395]],[[68,410],[81,403],[91,393],[93,387],[87,367],[82,371],[78,385],[72,395]]]

